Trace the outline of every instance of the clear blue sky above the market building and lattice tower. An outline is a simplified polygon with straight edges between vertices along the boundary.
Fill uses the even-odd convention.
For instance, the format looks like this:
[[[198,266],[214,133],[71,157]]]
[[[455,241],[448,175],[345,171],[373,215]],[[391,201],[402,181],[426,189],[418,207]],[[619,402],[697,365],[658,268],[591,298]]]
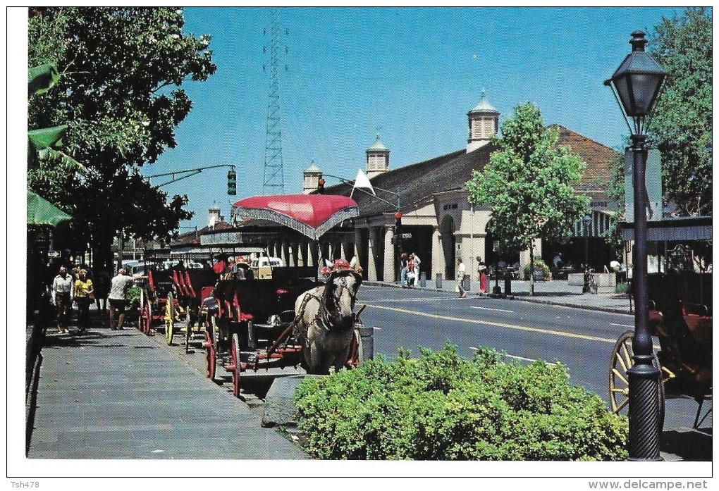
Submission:
[[[654,32],[661,8],[286,8],[280,41],[285,193],[301,191],[311,161],[352,179],[380,139],[390,168],[466,145],[467,111],[482,89],[502,117],[525,101],[546,124],[562,124],[609,147],[628,134],[602,82],[629,52],[631,32]],[[189,83],[191,114],[178,147],[147,175],[203,165],[237,165],[237,198],[263,194],[269,98],[270,9],[186,8],[186,32],[212,36],[217,72]],[[265,65],[267,70],[263,71]],[[153,183],[161,182],[152,180]],[[162,181],[164,182],[164,181]],[[328,184],[334,183],[328,179]],[[186,193],[204,226],[216,202],[229,215],[226,170],[163,189]]]

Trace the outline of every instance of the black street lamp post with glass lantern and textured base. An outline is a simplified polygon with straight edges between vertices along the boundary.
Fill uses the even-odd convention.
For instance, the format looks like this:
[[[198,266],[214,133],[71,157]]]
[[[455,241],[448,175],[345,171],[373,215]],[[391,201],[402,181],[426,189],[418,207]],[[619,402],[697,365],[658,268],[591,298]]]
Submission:
[[[621,109],[631,118],[634,191],[634,265],[633,283],[636,295],[634,364],[629,378],[629,460],[659,461],[661,419],[659,408],[659,370],[652,363],[653,353],[649,333],[649,298],[646,267],[646,126],[645,117],[651,114],[659,88],[667,73],[659,63],[644,52],[644,32],[632,32],[632,51],[612,78],[604,82],[613,89]],[[627,120],[627,125],[628,120]]]

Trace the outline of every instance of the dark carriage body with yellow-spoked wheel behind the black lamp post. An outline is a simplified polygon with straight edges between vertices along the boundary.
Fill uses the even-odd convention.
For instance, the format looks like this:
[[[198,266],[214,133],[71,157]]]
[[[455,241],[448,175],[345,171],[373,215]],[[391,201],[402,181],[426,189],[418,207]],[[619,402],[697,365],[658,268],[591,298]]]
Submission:
[[[712,282],[697,273],[649,275],[649,331],[659,341],[654,365],[659,368],[660,420],[665,398],[692,398],[697,404],[694,428],[707,399],[712,398]],[[633,366],[633,331],[619,336],[612,352],[609,375],[610,403],[615,413],[629,402],[627,371]]]

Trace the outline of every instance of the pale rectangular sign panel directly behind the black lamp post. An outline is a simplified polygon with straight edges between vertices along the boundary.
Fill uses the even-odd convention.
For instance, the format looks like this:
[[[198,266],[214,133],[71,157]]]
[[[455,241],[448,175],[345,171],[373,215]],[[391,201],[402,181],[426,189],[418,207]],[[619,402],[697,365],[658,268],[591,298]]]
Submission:
[[[634,152],[627,148],[624,152],[624,199],[625,221],[634,221]],[[664,201],[661,191],[661,153],[659,150],[649,150],[646,157],[646,193],[647,221],[661,220],[664,213]]]

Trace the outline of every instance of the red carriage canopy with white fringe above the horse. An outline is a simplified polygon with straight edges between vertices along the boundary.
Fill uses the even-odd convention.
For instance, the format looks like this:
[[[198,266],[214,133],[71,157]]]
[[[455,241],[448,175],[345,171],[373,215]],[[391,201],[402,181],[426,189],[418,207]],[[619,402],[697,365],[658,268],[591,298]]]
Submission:
[[[260,219],[290,227],[313,240],[343,220],[359,216],[357,203],[335,194],[282,194],[244,198],[232,206],[233,219]]]

